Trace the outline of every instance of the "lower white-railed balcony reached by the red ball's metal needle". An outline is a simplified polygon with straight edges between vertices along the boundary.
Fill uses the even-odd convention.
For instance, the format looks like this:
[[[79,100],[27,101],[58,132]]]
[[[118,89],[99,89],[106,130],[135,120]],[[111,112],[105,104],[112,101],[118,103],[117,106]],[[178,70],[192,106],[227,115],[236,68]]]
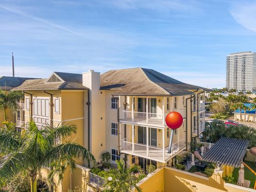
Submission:
[[[147,146],[139,143],[132,143],[127,138],[121,140],[121,152],[134,156],[144,157],[157,162],[166,163],[170,158],[175,156],[179,151],[186,147],[184,138],[172,144],[171,154],[168,152],[168,147],[165,149]]]

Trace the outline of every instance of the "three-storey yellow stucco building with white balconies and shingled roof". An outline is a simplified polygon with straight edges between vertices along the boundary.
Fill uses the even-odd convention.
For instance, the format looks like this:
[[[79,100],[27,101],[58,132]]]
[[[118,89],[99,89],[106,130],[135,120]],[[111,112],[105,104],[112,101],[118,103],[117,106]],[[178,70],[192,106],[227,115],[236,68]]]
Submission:
[[[76,124],[73,138],[89,149],[97,162],[108,151],[113,164],[124,158],[128,166],[137,163],[146,169],[147,164],[154,164],[159,168],[172,164],[173,158],[189,150],[190,143],[204,131],[207,89],[151,69],[110,70],[104,74],[93,70],[83,74],[54,72],[47,79],[26,80],[13,90],[25,93],[17,112],[17,127],[26,129],[30,119],[38,126]],[[174,134],[171,154],[167,153],[171,132],[165,124],[170,111],[178,111],[183,117],[182,126]],[[77,164],[86,166],[84,162]],[[46,175],[47,170],[42,170],[39,177]],[[73,175],[71,188],[83,183],[77,175]],[[69,186],[67,172],[63,190]],[[61,187],[56,190],[61,191]]]

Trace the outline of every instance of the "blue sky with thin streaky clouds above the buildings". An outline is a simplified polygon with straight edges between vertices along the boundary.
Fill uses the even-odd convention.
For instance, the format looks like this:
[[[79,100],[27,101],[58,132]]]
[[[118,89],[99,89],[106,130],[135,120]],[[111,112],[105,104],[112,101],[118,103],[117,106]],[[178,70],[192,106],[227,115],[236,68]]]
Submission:
[[[256,51],[256,1],[0,0],[0,76],[144,67],[223,87],[226,56]]]

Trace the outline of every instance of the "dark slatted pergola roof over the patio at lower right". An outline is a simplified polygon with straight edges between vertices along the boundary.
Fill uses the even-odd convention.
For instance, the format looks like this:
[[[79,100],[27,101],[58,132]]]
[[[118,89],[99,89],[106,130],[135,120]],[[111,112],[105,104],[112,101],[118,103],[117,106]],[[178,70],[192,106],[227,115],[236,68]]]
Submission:
[[[221,138],[203,156],[203,161],[239,167],[243,162],[248,140]]]

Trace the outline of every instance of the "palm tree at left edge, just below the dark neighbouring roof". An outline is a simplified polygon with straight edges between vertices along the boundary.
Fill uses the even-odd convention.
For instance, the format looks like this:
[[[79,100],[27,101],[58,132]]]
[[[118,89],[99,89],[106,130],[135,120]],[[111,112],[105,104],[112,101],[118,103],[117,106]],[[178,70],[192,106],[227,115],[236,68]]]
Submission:
[[[19,109],[18,101],[24,94],[20,91],[1,91],[0,90],[0,110],[4,110],[4,121],[8,121],[7,109],[15,113]]]

